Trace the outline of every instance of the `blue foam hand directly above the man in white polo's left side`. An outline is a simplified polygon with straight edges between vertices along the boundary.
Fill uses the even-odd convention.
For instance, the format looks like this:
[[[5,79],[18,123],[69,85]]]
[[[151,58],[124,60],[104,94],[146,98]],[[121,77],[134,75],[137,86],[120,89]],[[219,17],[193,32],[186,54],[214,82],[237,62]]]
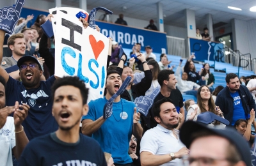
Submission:
[[[159,92],[160,89],[156,88],[154,89],[154,91],[152,91],[151,94],[149,94],[149,96],[140,96],[138,98],[135,98],[134,103],[138,108],[138,112],[140,112],[144,116],[147,116],[148,110],[152,107],[154,100]]]

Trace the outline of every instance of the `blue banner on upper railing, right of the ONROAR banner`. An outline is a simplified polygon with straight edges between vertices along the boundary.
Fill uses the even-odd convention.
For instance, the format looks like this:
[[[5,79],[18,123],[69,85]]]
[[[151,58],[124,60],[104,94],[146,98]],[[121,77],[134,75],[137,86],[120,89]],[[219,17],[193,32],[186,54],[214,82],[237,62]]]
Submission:
[[[195,53],[196,61],[214,61],[217,50],[223,49],[223,43],[189,38],[190,53]]]

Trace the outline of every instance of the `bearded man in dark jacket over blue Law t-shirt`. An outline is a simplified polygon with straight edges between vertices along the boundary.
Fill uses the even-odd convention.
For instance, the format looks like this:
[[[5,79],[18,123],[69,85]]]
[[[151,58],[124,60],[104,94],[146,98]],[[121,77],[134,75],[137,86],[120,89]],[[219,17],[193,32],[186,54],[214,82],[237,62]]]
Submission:
[[[226,76],[227,86],[220,91],[215,104],[223,111],[223,116],[232,126],[237,119],[250,118],[250,110],[256,109],[252,94],[246,86],[240,85],[235,73]]]

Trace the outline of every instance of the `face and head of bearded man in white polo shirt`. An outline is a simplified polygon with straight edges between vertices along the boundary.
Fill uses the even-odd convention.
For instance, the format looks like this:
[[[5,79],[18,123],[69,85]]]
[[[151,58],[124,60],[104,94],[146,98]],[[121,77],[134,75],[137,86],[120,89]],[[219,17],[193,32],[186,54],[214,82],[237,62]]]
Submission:
[[[155,117],[155,120],[164,128],[171,130],[179,125],[179,114],[173,103],[162,103],[159,116]]]

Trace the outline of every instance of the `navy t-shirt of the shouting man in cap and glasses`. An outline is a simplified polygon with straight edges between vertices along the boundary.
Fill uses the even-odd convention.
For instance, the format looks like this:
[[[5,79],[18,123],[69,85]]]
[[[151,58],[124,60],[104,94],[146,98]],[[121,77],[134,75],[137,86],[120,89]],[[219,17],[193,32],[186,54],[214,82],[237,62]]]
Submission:
[[[24,131],[29,140],[55,132],[58,124],[52,116],[51,86],[55,77],[41,81],[35,89],[26,89],[22,82],[9,77],[6,83],[6,105],[15,105],[15,102],[27,103],[30,107],[28,116],[23,121]]]

